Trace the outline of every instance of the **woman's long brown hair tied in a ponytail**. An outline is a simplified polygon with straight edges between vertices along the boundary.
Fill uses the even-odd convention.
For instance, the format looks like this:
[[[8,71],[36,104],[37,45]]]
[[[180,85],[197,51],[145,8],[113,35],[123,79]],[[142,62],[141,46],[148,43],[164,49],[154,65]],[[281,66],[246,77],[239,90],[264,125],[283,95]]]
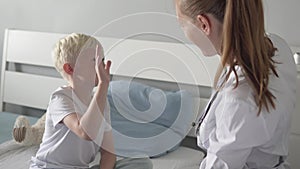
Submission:
[[[212,14],[223,23],[221,63],[229,66],[226,80],[233,72],[238,86],[236,65],[249,79],[258,105],[258,115],[269,104],[275,108],[275,96],[268,89],[269,75],[278,74],[272,57],[276,48],[264,27],[262,0],[180,0],[180,10],[195,19],[199,14]]]

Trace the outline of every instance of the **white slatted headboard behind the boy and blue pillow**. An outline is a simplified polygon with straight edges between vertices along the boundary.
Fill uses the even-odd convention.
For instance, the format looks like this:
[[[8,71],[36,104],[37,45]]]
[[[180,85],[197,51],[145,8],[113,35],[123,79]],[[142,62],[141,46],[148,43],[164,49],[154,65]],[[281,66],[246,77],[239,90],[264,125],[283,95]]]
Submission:
[[[45,111],[50,94],[58,86],[65,84],[55,71],[51,58],[54,44],[65,35],[14,29],[5,31],[0,111]],[[201,56],[196,46],[180,42],[107,37],[97,39],[103,45],[105,57],[113,62],[112,80],[134,79],[164,90],[188,90],[198,99],[195,117],[206,105],[219,64],[218,57]],[[300,51],[298,47],[291,48],[294,52]],[[18,111],[15,111],[16,107]],[[295,113],[292,122],[292,151],[293,146],[299,147],[296,143],[300,143],[300,125],[296,120],[300,119],[299,107],[298,104],[298,113]],[[39,113],[36,116],[42,115]],[[193,134],[189,136],[193,137]],[[300,150],[296,150],[292,152],[291,162],[292,165],[299,166],[296,158],[299,157]]]

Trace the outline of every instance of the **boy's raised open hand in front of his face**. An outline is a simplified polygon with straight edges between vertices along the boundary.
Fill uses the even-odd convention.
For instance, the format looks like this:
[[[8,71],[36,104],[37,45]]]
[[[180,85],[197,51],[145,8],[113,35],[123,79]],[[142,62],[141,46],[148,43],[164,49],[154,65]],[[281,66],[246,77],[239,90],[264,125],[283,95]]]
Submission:
[[[100,56],[98,54],[98,45],[96,46],[96,63],[95,63],[95,69],[96,69],[96,74],[98,78],[98,85],[101,83],[106,83],[108,84],[110,81],[110,66],[111,66],[111,61],[108,60],[107,63],[104,63],[104,56]]]

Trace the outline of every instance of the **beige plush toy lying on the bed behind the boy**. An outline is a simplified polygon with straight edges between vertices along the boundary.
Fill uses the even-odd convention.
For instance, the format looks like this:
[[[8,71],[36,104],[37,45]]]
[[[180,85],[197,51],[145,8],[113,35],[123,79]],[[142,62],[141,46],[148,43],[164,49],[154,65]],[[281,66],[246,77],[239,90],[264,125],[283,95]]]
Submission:
[[[25,116],[18,116],[12,131],[14,140],[24,146],[39,145],[45,131],[46,114],[30,125]]]

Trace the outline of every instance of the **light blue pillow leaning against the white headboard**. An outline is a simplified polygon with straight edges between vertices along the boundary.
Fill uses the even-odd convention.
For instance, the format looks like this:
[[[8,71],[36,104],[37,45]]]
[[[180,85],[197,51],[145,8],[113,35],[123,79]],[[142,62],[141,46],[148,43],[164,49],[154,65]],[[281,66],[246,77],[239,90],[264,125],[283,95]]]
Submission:
[[[116,154],[157,157],[175,150],[193,121],[193,98],[132,81],[112,81],[108,91]]]

